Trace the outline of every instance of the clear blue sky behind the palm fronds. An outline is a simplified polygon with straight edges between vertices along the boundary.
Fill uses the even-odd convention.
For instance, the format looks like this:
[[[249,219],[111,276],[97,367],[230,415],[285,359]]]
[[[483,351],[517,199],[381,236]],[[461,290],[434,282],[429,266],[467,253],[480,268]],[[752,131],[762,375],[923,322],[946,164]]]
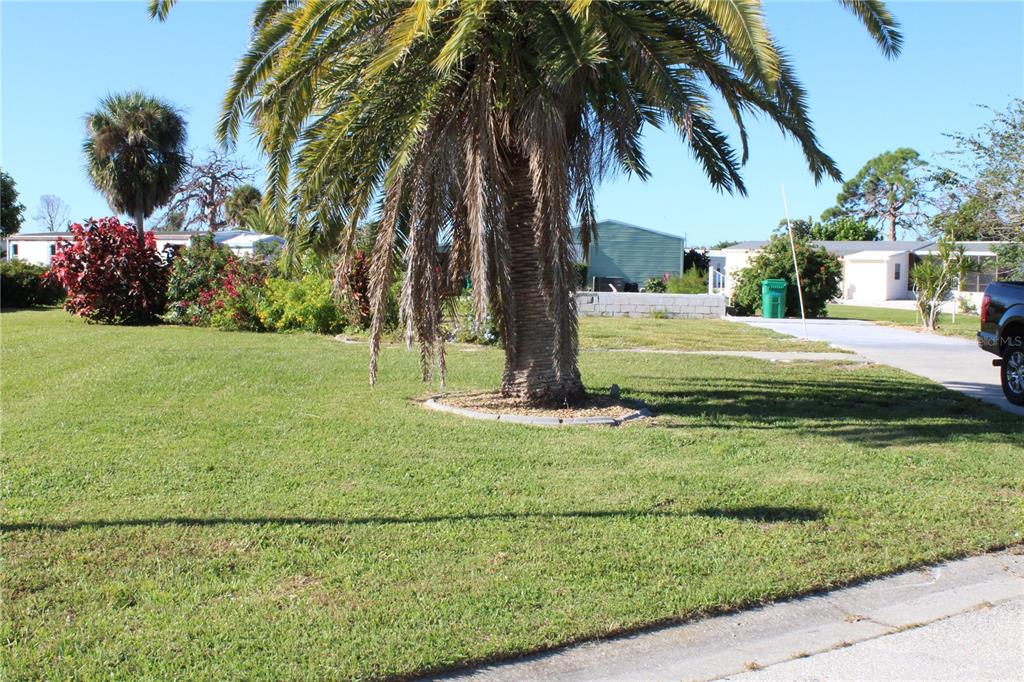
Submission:
[[[894,2],[902,56],[887,60],[860,25],[831,2],[768,2],[772,32],[810,94],[825,151],[847,176],[872,156],[911,146],[926,158],[948,147],[943,133],[973,130],[1024,96],[1024,2]],[[189,144],[214,144],[220,99],[243,52],[249,2],[185,0],[166,24],[144,2],[0,0],[0,165],[28,207],[53,194],[72,217],[106,215],[85,178],[83,119],[109,92],[142,88],[185,114]],[[726,126],[728,129],[728,126]],[[765,122],[751,126],[749,197],[708,186],[672,133],[650,131],[653,177],[616,177],[598,191],[598,216],[687,235],[691,244],[764,238],[782,215],[785,182],[794,217],[817,216],[838,185],[815,187],[798,147]],[[259,169],[250,140],[238,155]]]

